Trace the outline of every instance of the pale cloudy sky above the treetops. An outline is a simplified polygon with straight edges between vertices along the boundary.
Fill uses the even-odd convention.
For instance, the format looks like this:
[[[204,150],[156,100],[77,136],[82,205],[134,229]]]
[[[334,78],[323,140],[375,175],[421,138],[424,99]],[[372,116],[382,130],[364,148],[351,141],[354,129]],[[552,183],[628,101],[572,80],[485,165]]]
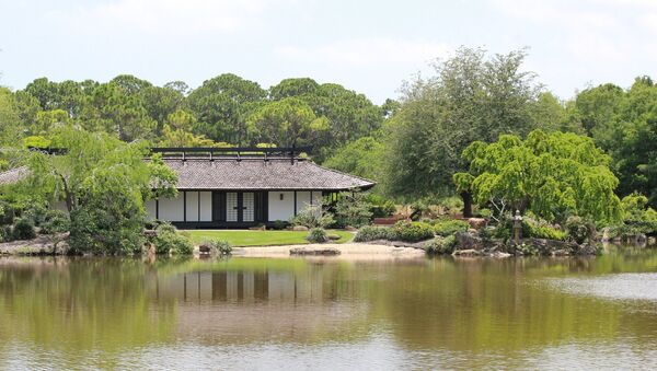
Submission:
[[[122,73],[335,82],[380,104],[460,46],[528,48],[562,98],[657,79],[657,0],[0,0],[0,85]]]

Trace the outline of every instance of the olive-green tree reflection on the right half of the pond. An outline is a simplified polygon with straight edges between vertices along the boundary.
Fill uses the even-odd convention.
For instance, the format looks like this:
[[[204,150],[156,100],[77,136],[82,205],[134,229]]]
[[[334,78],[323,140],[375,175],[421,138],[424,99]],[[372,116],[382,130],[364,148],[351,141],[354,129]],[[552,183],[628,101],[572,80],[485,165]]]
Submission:
[[[618,257],[609,259],[623,264]],[[623,331],[626,316],[619,303],[565,294],[539,281],[569,273],[600,274],[609,266],[607,257],[434,259],[426,267],[395,269],[394,279],[370,295],[377,316],[394,324],[396,338],[411,348],[523,350],[577,338],[612,338]],[[647,316],[636,322],[654,322]]]

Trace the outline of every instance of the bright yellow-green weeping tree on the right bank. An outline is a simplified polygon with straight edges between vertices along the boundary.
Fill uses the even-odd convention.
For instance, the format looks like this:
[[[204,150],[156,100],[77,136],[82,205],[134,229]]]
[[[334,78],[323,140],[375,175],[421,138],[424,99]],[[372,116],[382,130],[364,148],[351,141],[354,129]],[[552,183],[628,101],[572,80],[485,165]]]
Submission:
[[[458,189],[498,217],[516,209],[557,222],[579,216],[613,223],[621,217],[611,158],[588,137],[534,130],[523,141],[504,135],[494,143],[473,142],[463,158],[470,172],[454,174]]]

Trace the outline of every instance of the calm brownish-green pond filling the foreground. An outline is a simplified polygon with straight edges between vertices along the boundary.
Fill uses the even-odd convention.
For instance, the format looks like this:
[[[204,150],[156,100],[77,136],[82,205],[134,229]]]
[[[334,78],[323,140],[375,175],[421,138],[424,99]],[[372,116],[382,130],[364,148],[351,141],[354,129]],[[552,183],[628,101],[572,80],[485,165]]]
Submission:
[[[657,367],[657,250],[0,258],[1,369]]]

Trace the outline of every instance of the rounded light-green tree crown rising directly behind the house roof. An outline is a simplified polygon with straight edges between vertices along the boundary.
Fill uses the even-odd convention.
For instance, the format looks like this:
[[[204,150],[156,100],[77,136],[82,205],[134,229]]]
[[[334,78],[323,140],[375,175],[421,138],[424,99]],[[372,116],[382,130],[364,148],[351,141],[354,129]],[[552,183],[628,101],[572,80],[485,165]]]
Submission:
[[[247,125],[260,142],[281,147],[307,144],[328,129],[324,117],[316,117],[308,104],[296,97],[268,103],[249,117]]]

